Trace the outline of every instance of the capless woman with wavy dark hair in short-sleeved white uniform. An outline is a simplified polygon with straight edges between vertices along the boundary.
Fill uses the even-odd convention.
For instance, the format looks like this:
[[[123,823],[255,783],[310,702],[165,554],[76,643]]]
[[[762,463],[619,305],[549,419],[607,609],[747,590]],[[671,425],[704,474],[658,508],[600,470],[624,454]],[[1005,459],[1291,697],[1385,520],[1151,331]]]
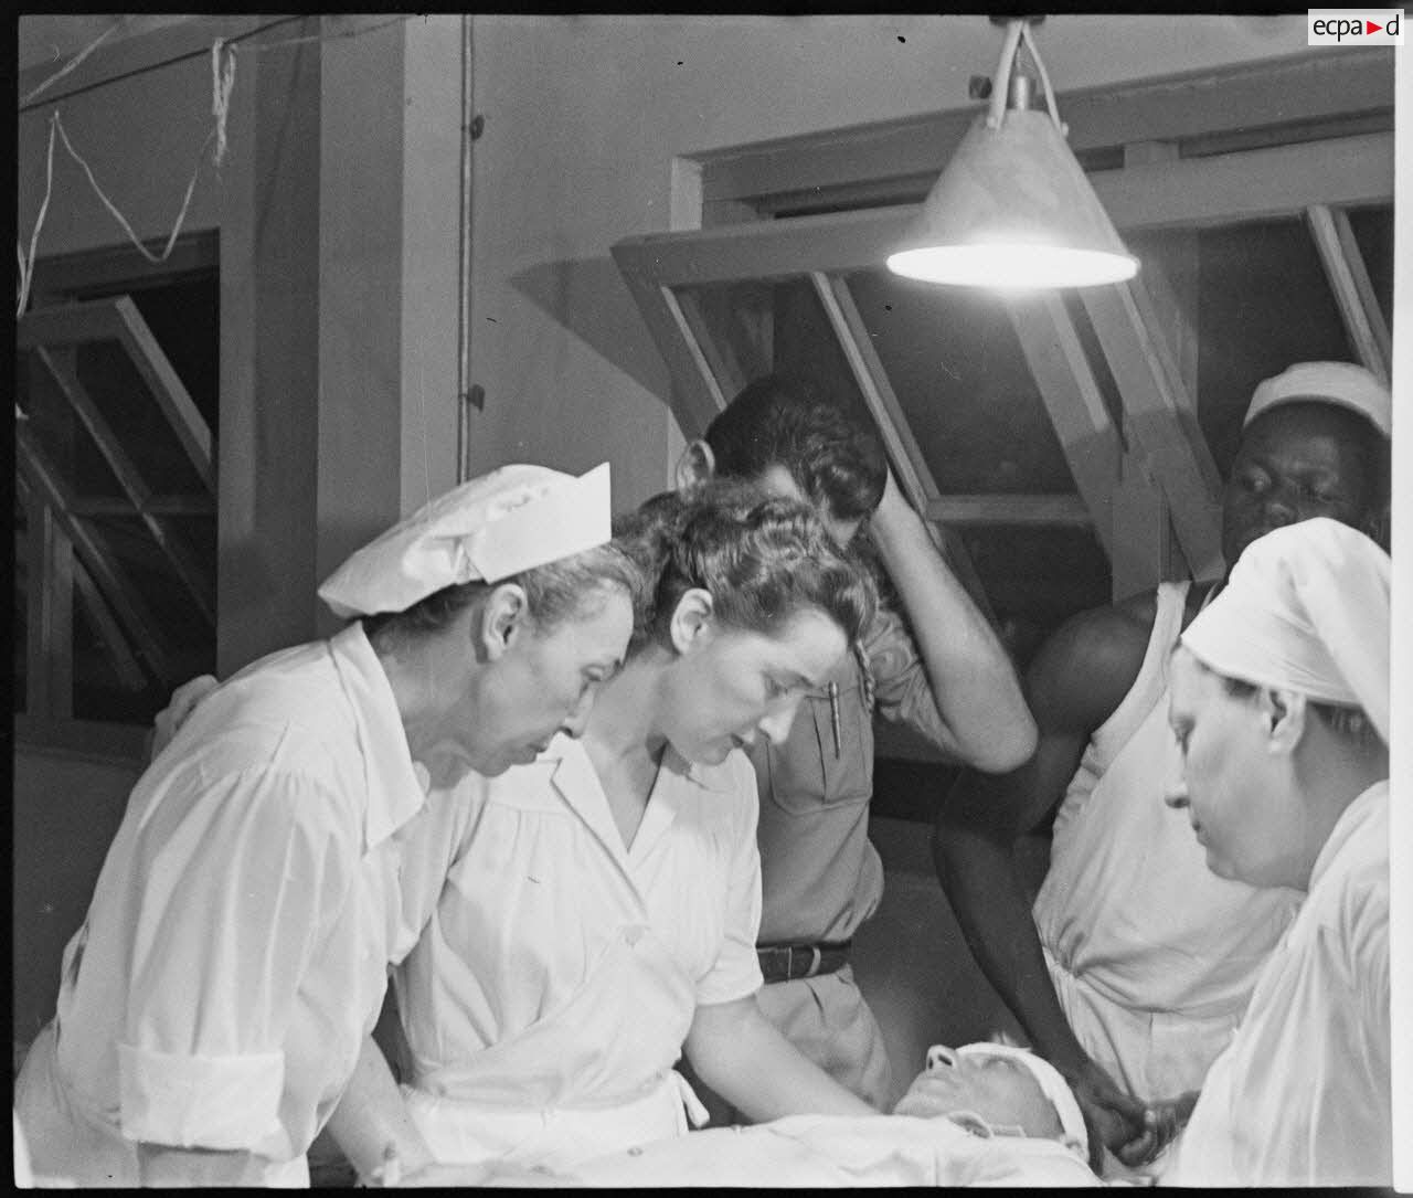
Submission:
[[[367,1150],[363,1177],[389,1153],[404,1175],[428,1157],[562,1168],[680,1134],[684,1108],[705,1113],[684,1051],[753,1119],[872,1113],[756,1009],[742,752],[786,736],[872,583],[808,506],[739,485],[658,496],[615,531],[658,583],[582,739],[434,795],[403,835],[410,1123],[355,1088],[343,1117],[363,1123],[339,1140]]]

